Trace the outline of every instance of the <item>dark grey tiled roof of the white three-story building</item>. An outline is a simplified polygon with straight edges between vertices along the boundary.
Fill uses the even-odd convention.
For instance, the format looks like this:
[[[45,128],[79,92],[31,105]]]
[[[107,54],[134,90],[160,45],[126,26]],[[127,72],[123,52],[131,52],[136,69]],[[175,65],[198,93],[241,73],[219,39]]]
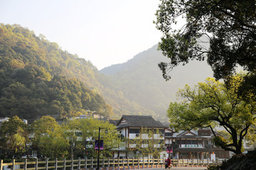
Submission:
[[[150,115],[123,115],[117,127],[167,128]]]

